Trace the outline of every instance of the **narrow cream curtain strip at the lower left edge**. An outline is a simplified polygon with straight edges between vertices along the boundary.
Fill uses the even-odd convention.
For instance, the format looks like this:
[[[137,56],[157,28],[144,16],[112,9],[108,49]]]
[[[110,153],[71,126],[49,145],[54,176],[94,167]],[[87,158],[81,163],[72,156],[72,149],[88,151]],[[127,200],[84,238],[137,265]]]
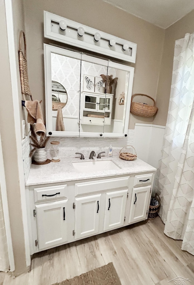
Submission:
[[[7,239],[5,233],[5,222],[3,215],[1,185],[0,185],[0,271],[9,270],[9,257],[7,248]]]

